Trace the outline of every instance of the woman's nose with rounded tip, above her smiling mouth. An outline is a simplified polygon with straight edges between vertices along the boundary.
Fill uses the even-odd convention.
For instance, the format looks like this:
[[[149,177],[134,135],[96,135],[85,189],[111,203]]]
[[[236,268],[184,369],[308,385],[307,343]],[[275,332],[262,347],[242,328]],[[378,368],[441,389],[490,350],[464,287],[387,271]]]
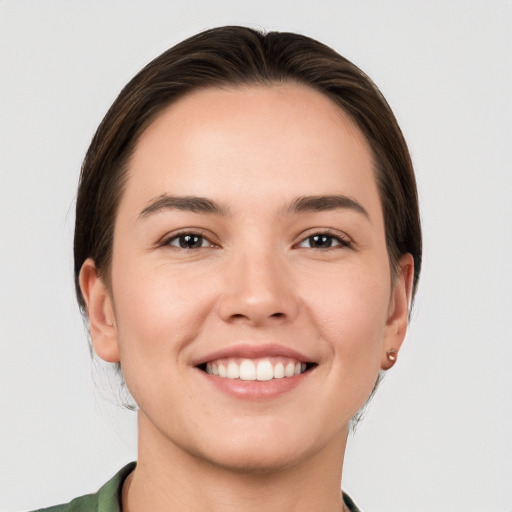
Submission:
[[[299,300],[285,261],[271,253],[244,253],[225,270],[219,314],[226,322],[253,326],[293,320]]]

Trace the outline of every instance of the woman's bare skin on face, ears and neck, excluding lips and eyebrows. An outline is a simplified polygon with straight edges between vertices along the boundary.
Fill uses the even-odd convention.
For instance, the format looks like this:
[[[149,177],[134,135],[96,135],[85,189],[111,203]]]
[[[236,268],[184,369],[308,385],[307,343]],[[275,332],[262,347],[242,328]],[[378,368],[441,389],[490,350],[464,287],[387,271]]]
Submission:
[[[163,194],[222,211],[151,206]],[[364,212],[290,209],[326,195]],[[204,242],[181,248],[183,233]],[[315,234],[331,247],[312,246]],[[412,268],[404,255],[390,273],[371,152],[330,99],[280,84],[203,90],[164,110],[129,163],[109,286],[92,260],[80,275],[94,349],[121,361],[139,406],[123,509],[342,509],[349,421],[404,339]],[[273,398],[232,396],[194,362],[239,343],[316,366]]]

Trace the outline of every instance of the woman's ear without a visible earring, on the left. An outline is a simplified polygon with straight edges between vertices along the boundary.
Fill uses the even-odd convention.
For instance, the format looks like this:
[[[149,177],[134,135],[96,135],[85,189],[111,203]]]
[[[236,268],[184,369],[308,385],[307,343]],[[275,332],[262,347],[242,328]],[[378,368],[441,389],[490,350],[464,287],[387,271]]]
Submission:
[[[87,304],[94,352],[104,361],[118,363],[119,344],[112,298],[91,258],[85,260],[80,269],[79,283]]]

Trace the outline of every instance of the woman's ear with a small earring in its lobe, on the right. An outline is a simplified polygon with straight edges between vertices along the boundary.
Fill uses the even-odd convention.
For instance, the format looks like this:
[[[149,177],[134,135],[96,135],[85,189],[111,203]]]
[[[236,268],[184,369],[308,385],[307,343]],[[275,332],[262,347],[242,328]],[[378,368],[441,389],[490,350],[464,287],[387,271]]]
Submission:
[[[395,364],[404,341],[409,323],[413,279],[414,259],[411,254],[404,254],[398,263],[398,272],[389,301],[380,366],[382,370],[389,370]]]

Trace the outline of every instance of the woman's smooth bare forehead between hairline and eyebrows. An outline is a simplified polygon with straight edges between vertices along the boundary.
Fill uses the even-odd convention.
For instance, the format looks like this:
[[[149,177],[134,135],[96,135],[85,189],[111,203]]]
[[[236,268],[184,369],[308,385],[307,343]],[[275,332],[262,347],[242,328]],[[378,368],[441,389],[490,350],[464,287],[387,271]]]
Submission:
[[[325,95],[284,83],[200,90],[164,109],[138,140],[122,203],[162,193],[233,202],[369,191],[378,202],[356,124]]]

